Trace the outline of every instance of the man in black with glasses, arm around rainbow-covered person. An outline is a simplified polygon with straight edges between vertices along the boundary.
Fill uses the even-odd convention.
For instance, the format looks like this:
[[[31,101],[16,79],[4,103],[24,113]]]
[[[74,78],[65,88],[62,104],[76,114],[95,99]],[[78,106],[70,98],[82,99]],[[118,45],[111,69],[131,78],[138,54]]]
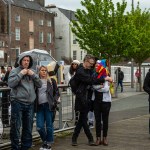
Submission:
[[[106,77],[103,79],[94,79],[91,76],[91,67],[95,63],[95,57],[90,54],[87,54],[84,57],[83,64],[80,64],[76,74],[75,79],[78,85],[78,89],[76,91],[76,99],[75,99],[75,111],[79,112],[79,120],[75,126],[73,135],[72,135],[72,146],[77,146],[77,138],[80,134],[81,128],[83,127],[84,132],[88,138],[88,143],[90,146],[95,145],[93,135],[90,132],[88,123],[87,123],[87,115],[90,110],[90,100],[91,100],[91,89],[90,86],[93,84],[104,83],[105,80],[111,81],[110,77]]]

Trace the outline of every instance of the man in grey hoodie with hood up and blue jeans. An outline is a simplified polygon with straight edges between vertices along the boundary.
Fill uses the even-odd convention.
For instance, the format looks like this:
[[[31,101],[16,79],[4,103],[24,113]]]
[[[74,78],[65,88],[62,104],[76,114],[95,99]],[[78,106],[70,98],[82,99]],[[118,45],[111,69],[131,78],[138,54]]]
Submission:
[[[31,69],[33,60],[30,55],[26,53],[20,55],[18,64],[8,78],[8,86],[11,88],[11,150],[28,150],[32,146],[35,88],[41,87],[42,83]],[[21,147],[19,147],[21,125]]]

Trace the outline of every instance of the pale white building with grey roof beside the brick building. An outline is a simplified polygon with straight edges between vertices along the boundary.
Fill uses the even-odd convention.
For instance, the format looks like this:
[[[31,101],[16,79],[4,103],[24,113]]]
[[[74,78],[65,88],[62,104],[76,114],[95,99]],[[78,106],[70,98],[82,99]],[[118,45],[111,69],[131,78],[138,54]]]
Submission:
[[[77,20],[75,12],[58,8],[55,5],[48,5],[46,9],[50,13],[54,13],[55,17],[55,48],[56,59],[61,61],[64,57],[71,58],[73,60],[78,59],[80,62],[86,52],[80,49],[79,44],[76,41],[76,36],[71,31],[71,21]]]

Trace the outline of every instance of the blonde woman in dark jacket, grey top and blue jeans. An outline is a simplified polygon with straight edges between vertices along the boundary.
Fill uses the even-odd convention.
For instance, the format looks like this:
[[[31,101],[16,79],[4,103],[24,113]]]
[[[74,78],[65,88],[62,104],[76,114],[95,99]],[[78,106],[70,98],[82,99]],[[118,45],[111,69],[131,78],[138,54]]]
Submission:
[[[39,68],[42,87],[37,89],[36,126],[43,141],[40,150],[51,150],[54,143],[53,118],[60,97],[55,79],[48,77],[47,67]]]

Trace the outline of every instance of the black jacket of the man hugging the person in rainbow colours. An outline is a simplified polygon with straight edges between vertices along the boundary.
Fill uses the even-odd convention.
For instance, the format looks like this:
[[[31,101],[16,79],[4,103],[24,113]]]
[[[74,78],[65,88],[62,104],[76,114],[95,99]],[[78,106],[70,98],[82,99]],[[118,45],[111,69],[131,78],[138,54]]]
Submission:
[[[81,64],[76,71],[76,81],[78,90],[76,92],[75,110],[88,111],[90,109],[90,100],[92,96],[91,85],[104,83],[105,80],[93,78],[91,70],[85,69]]]

